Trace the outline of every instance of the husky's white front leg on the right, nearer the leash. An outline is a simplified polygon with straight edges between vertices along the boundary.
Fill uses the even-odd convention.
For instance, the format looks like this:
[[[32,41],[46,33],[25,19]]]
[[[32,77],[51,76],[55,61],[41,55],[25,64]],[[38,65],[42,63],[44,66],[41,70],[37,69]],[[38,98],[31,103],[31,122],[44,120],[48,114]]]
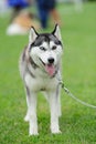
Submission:
[[[51,107],[51,132],[61,133],[58,126],[58,101],[56,92],[50,92],[50,107]]]

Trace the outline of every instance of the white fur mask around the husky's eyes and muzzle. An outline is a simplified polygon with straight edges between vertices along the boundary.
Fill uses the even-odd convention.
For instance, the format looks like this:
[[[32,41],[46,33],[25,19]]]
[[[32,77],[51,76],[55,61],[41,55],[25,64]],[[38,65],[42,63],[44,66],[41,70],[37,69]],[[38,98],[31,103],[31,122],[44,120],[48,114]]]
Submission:
[[[55,44],[54,41],[50,41],[50,43],[43,42],[41,45],[31,49],[31,56],[38,65],[42,65],[42,62],[44,64],[49,64],[50,58],[54,59],[54,65],[56,65],[61,59],[61,55],[62,47]]]

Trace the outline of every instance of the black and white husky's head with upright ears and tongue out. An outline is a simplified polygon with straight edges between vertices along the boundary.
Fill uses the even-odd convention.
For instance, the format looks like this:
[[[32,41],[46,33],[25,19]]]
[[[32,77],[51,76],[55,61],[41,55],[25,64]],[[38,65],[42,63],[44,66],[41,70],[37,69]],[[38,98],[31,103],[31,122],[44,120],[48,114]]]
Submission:
[[[58,69],[62,50],[62,38],[57,24],[51,33],[40,34],[33,27],[31,28],[29,37],[30,58],[51,76]]]

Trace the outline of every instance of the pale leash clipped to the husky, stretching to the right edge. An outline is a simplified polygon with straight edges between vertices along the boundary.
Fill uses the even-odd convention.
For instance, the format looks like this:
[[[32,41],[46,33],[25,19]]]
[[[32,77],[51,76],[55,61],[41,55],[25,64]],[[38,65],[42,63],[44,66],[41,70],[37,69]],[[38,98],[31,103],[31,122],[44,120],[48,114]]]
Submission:
[[[58,79],[57,79],[57,80],[58,80]],[[71,91],[70,91],[67,88],[65,88],[63,81],[58,80],[58,84],[62,86],[62,89],[65,91],[65,93],[66,93],[68,96],[71,96],[72,99],[74,99],[74,100],[77,101],[78,103],[81,103],[81,104],[83,104],[83,105],[85,105],[85,106],[87,106],[87,107],[96,109],[96,105],[86,103],[86,102],[84,102],[84,101],[77,99],[73,93],[71,93]]]

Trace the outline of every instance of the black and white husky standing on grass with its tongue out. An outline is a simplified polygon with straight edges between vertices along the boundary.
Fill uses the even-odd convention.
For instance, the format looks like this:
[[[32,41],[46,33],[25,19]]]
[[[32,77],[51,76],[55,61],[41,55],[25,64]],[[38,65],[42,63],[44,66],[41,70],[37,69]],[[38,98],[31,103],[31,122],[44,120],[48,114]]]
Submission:
[[[52,33],[38,33],[32,27],[29,44],[20,56],[20,74],[26,92],[29,134],[38,135],[36,93],[43,91],[47,97],[51,111],[51,132],[61,133],[58,117],[61,116],[60,86],[61,55],[63,47],[60,28],[56,24]]]

